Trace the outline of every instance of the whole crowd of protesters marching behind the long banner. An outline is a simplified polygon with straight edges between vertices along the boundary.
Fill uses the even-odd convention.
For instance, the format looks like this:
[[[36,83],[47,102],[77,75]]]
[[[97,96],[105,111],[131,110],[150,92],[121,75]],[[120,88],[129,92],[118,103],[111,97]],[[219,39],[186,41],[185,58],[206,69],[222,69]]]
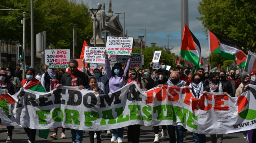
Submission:
[[[249,75],[242,74],[241,69],[229,71],[221,70],[219,72],[206,72],[203,68],[195,69],[190,67],[183,67],[177,65],[169,71],[166,70],[167,62],[160,61],[159,69],[153,69],[153,62],[150,63],[148,69],[131,68],[131,57],[123,67],[121,63],[115,63],[110,67],[110,58],[105,51],[105,68],[106,73],[102,75],[102,67],[94,69],[91,74],[89,67],[83,66],[82,71],[79,71],[78,62],[70,60],[69,69],[48,68],[45,65],[43,75],[38,71],[35,74],[33,68],[26,70],[26,78],[22,80],[20,74],[20,64],[17,64],[16,70],[12,67],[6,67],[0,71],[0,88],[5,92],[13,95],[20,89],[30,89],[38,92],[49,92],[62,85],[78,87],[79,90],[87,89],[94,91],[95,94],[108,94],[121,89],[124,85],[136,82],[142,91],[147,91],[153,87],[162,87],[163,85],[184,87],[191,89],[195,98],[200,98],[200,95],[206,92],[223,92],[232,97],[238,97],[242,92],[250,90],[249,84],[256,85],[256,69],[252,69]],[[65,128],[61,127],[61,138],[66,138]],[[139,143],[140,125],[130,125],[128,128],[128,141],[132,143]],[[7,127],[6,143],[12,142],[12,132],[14,126]],[[155,134],[154,142],[158,143],[160,139],[166,139],[166,132],[169,134],[170,143],[183,143],[186,140],[187,130],[183,126],[162,125],[161,136],[159,136],[160,127],[154,126],[152,132]],[[35,129],[24,128],[28,135],[28,143],[35,141]],[[175,136],[176,131],[176,136]],[[97,143],[101,143],[101,131],[89,131],[89,138],[91,143],[96,139]],[[72,143],[81,143],[83,140],[83,130],[71,129]],[[122,143],[124,135],[124,128],[107,130],[107,135],[112,135],[111,142],[117,141]],[[256,130],[249,130],[243,132],[244,138],[247,138],[249,143],[256,142]],[[50,138],[58,138],[58,128],[54,129],[54,134]],[[206,135],[193,134],[195,143],[205,143]],[[153,141],[153,139],[152,139]],[[222,134],[211,135],[212,143],[222,143]]]

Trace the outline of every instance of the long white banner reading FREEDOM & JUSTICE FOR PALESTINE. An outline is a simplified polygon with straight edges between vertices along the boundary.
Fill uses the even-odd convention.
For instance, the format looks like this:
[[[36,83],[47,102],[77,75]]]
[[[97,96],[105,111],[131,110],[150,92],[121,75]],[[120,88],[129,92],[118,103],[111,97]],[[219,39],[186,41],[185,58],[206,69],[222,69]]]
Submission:
[[[208,92],[197,100],[185,88],[163,86],[142,92],[135,82],[98,95],[65,86],[48,93],[21,89],[13,96],[1,95],[0,116],[2,125],[31,129],[183,125],[199,134],[227,134],[256,128],[255,91],[250,85],[239,98]]]

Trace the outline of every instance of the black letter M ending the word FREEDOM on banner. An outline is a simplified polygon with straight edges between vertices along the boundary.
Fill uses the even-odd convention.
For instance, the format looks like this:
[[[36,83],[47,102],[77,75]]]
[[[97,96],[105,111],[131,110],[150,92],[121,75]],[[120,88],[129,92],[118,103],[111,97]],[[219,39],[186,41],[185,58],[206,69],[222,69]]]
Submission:
[[[112,93],[111,97],[109,97],[108,94],[99,94],[99,97],[100,97],[100,108],[106,107],[104,99],[108,103],[108,106],[111,105],[111,103],[114,100],[114,97],[115,97],[114,104],[121,103],[121,100],[119,99],[120,94],[121,94],[121,91],[117,91],[117,92]]]

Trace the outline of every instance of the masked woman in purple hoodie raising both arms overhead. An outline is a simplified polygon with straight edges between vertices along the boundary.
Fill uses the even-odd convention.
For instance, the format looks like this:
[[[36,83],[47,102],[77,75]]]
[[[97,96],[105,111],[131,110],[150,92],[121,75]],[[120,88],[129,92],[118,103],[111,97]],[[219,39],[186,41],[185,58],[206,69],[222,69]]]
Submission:
[[[132,52],[130,52],[130,57],[127,62],[127,65],[124,69],[122,70],[122,64],[121,63],[115,63],[115,65],[112,67],[112,70],[109,65],[108,61],[108,55],[106,54],[107,51],[105,50],[105,69],[106,69],[106,74],[109,79],[109,94],[116,92],[117,90],[121,89],[124,85],[124,79],[126,77],[126,72],[130,68],[131,65],[131,60],[132,60]],[[122,138],[124,136],[124,128],[119,128],[119,129],[113,129],[112,130],[112,138],[111,142],[114,142],[116,139],[118,139],[118,143],[122,143]]]

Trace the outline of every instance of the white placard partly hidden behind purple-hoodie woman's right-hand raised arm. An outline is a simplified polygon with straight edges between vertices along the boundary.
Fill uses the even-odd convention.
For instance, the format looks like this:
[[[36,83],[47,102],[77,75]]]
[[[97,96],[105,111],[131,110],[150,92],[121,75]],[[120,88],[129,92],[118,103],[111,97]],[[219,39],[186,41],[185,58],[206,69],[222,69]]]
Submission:
[[[119,62],[122,66],[126,67],[127,62],[129,60],[129,56],[119,55]],[[142,55],[141,54],[132,54],[132,62],[131,67],[139,67],[142,68]]]

